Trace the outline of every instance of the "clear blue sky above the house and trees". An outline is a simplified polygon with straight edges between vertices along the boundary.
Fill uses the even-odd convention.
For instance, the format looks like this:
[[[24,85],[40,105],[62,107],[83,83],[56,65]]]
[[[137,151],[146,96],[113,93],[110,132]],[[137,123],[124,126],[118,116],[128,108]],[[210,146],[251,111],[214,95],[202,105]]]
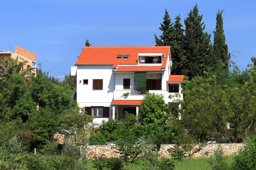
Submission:
[[[153,46],[154,33],[167,8],[172,21],[198,4],[208,33],[215,30],[216,13],[223,12],[226,43],[235,53],[241,70],[256,56],[255,1],[52,1],[20,0],[1,2],[0,50],[15,50],[15,45],[37,55],[37,63],[49,75],[69,74],[85,40],[92,46]],[[213,40],[213,34],[212,34]],[[58,73],[53,73],[58,72]]]

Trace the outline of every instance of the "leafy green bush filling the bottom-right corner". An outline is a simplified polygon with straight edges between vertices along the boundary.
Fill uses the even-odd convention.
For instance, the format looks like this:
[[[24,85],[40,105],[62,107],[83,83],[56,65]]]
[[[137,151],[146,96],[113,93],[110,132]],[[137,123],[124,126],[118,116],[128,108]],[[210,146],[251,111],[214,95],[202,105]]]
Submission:
[[[234,156],[234,162],[232,163],[232,169],[256,169],[256,135],[248,137],[244,140],[246,145],[241,149],[238,154]]]

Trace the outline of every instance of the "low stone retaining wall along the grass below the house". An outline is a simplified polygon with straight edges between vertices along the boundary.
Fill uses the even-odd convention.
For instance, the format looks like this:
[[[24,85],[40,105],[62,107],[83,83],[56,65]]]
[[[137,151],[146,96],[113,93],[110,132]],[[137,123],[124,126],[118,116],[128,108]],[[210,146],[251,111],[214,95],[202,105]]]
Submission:
[[[159,151],[159,156],[169,157],[170,154],[168,149],[172,149],[175,145],[161,145],[161,150]],[[222,144],[208,144],[205,146],[199,153],[195,153],[193,155],[194,158],[200,158],[203,156],[210,156],[214,154],[215,149],[218,147],[222,147],[225,155],[232,155],[237,153],[240,148],[244,146],[243,143],[222,143]],[[104,154],[105,157],[119,157],[120,154],[114,148],[114,145],[90,145],[86,146],[86,152],[89,158],[93,158],[93,156],[101,156]],[[84,148],[84,147],[83,147]]]

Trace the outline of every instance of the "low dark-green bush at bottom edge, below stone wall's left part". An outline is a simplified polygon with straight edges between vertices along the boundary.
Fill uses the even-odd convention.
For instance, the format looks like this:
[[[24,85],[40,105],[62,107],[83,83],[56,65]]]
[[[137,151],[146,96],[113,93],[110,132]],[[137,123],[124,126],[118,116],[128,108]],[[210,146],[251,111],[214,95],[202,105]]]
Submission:
[[[123,160],[120,158],[106,158],[106,157],[94,157],[94,160],[92,161],[94,164],[94,168],[102,170],[105,169],[111,169],[111,170],[119,170],[123,169]]]

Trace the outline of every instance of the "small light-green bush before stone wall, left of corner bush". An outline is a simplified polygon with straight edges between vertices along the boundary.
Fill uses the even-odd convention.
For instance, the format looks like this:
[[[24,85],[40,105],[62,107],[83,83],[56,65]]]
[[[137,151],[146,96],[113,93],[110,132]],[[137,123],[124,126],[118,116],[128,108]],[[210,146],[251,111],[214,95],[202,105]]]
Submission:
[[[224,156],[222,147],[218,147],[214,151],[214,156],[211,156],[207,162],[210,164],[212,170],[228,170],[227,158]]]

